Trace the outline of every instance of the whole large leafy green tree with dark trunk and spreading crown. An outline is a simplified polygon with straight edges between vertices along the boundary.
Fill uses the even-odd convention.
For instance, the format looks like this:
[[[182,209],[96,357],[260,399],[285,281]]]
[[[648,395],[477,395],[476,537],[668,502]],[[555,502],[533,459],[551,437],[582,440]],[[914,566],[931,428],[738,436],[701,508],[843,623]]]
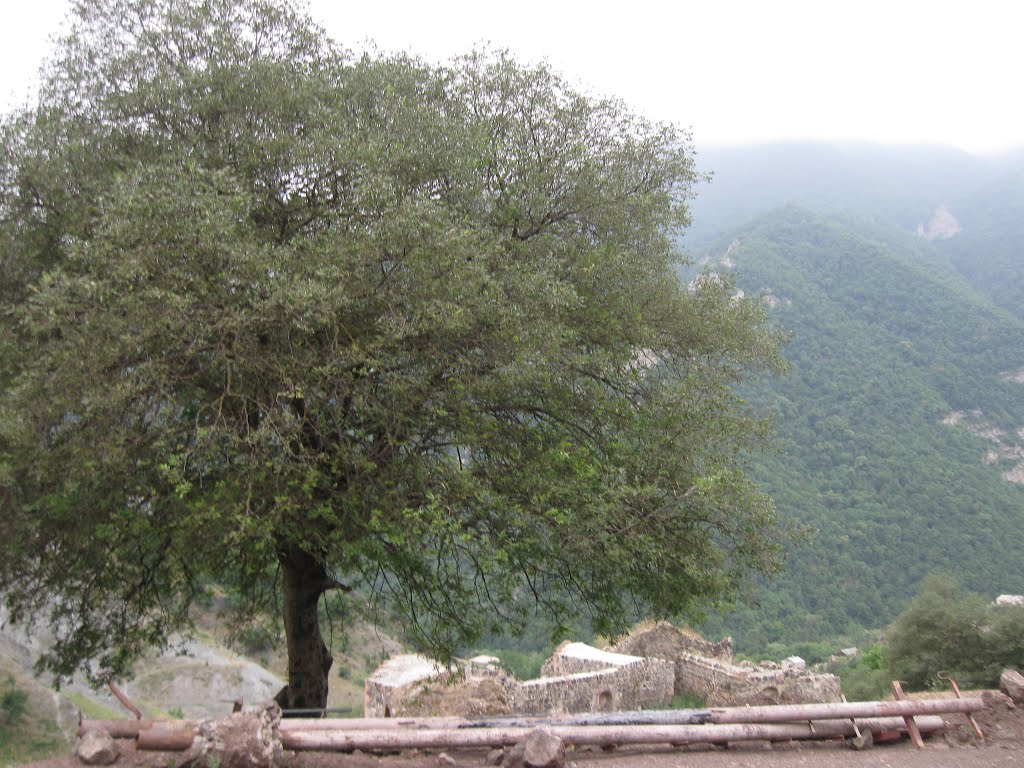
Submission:
[[[441,657],[778,565],[743,472],[758,301],[681,285],[684,131],[546,67],[352,57],[271,0],[81,0],[3,124],[0,597],[124,673],[211,580],[331,589]]]

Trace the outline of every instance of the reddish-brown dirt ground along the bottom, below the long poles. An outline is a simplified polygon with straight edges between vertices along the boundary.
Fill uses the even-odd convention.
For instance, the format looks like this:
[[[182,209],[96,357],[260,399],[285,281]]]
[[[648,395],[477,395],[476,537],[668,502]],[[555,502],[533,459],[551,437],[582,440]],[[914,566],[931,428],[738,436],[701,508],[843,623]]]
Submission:
[[[932,735],[923,750],[907,740],[876,744],[856,752],[843,741],[739,743],[722,746],[620,748],[603,752],[570,748],[566,764],[575,768],[1004,768],[1024,766],[1024,707],[1014,707],[1001,694],[987,693],[988,708],[975,715],[984,734],[979,740],[967,716],[948,715],[942,734]],[[136,752],[131,741],[119,742],[117,766],[168,768],[181,753]],[[286,753],[283,768],[439,768],[487,765],[488,750],[412,750],[378,755],[301,752]],[[446,755],[446,757],[442,757]],[[454,762],[452,762],[454,761]],[[80,768],[75,758],[33,764],[35,768]]]

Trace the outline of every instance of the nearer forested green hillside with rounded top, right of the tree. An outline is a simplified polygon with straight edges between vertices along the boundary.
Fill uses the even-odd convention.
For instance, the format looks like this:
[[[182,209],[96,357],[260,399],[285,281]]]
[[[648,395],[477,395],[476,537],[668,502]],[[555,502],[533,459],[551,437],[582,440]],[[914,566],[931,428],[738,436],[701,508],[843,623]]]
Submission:
[[[741,649],[856,637],[886,625],[933,570],[984,593],[1024,592],[1024,486],[990,440],[1024,442],[1024,324],[930,256],[790,207],[710,250],[728,252],[794,333],[787,377],[748,392],[778,418],[757,474],[780,513],[810,525],[786,572],[709,630]],[[720,259],[719,259],[720,260]],[[972,413],[980,410],[980,414]],[[953,412],[964,412],[956,426]]]

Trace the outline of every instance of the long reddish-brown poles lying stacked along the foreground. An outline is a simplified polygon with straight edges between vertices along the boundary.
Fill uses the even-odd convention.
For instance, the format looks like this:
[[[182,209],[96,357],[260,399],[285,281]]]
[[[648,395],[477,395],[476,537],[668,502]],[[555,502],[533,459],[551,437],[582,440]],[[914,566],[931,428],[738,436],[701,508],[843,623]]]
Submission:
[[[410,750],[507,746],[544,726],[566,743],[689,744],[746,740],[835,739],[905,732],[912,723],[923,733],[941,730],[945,713],[984,709],[980,698],[667,710],[562,717],[285,719],[286,750]],[[230,716],[240,717],[240,716]],[[134,738],[140,750],[185,750],[199,733],[198,721],[83,720],[80,733],[102,729],[116,738]]]

